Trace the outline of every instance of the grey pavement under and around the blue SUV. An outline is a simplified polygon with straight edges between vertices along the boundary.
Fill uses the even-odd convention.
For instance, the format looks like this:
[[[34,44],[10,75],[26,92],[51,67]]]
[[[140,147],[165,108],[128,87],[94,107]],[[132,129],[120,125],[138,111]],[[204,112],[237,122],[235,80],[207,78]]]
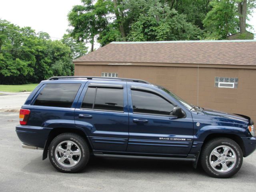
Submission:
[[[28,94],[0,96],[0,108],[20,108]],[[188,162],[91,158],[78,174],[58,172],[42,150],[23,149],[18,112],[0,111],[0,192],[255,192],[256,152],[228,179],[211,178]]]

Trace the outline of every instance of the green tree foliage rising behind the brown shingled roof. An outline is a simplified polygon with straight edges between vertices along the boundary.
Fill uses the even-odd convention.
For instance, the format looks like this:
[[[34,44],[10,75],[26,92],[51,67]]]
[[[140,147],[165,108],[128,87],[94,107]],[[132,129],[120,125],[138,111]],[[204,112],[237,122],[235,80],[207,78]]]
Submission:
[[[226,39],[242,28],[241,21],[256,0],[81,0],[68,15],[77,41]],[[247,6],[245,8],[245,6]],[[93,21],[93,22],[90,22]],[[93,35],[91,35],[93,34]]]

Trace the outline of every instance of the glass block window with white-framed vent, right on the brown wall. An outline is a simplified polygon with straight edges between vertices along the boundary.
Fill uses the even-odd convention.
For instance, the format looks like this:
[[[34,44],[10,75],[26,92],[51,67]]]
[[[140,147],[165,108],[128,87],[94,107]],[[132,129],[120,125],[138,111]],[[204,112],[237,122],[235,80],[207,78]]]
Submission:
[[[222,88],[238,88],[238,78],[215,77],[214,86]]]

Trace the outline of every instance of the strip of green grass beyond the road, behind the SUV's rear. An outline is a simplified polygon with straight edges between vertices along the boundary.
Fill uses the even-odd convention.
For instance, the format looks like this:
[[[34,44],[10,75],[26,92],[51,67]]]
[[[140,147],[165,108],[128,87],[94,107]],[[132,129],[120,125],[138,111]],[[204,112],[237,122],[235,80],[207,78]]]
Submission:
[[[36,88],[38,84],[24,85],[0,85],[0,91],[4,92],[30,92]]]

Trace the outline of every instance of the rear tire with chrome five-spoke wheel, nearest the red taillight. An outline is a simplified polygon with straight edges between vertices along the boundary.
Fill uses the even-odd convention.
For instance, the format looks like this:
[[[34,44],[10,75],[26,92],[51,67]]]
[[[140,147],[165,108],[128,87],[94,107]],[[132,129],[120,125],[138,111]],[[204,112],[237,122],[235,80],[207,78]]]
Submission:
[[[74,133],[62,133],[49,145],[49,159],[54,168],[64,173],[83,170],[90,158],[86,140]]]

